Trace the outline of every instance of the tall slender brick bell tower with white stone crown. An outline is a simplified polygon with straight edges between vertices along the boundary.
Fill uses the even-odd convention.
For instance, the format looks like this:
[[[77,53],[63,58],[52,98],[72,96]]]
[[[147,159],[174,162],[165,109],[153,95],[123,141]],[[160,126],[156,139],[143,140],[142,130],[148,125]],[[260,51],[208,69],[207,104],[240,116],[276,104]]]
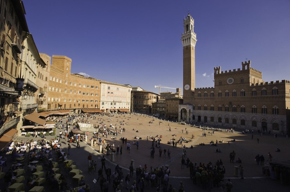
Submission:
[[[183,46],[183,97],[193,95],[195,88],[195,44],[194,19],[190,14],[183,20],[184,32],[181,34]],[[184,98],[186,100],[186,98]]]

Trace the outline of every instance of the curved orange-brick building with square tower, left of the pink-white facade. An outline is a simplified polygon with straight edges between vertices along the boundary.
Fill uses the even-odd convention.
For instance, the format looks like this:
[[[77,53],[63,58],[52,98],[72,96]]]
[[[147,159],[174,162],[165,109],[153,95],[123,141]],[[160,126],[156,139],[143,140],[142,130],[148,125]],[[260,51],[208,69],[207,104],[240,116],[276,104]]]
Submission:
[[[69,57],[52,56],[48,86],[48,110],[72,109],[80,113],[81,109],[99,109],[101,81],[80,74],[71,74]]]

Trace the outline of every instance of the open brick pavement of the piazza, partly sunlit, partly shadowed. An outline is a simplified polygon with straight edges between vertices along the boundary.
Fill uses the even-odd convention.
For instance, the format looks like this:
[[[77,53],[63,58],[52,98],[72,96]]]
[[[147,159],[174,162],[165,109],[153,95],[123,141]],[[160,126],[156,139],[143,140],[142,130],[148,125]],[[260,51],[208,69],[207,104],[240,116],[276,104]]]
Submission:
[[[178,189],[179,182],[184,182],[184,191],[203,191],[201,187],[198,187],[193,184],[192,180],[189,177],[189,169],[185,167],[185,169],[181,169],[181,159],[182,159],[182,148],[181,145],[177,144],[176,148],[173,148],[172,145],[167,144],[167,142],[174,138],[184,137],[187,140],[191,139],[192,134],[194,135],[194,139],[192,142],[183,143],[188,147],[187,150],[187,157],[193,163],[205,163],[208,162],[215,162],[219,159],[222,159],[226,173],[225,178],[230,178],[233,183],[232,191],[289,191],[289,186],[284,186],[280,184],[280,182],[276,179],[271,179],[270,177],[265,176],[262,173],[262,165],[257,165],[254,161],[255,156],[260,154],[265,156],[265,164],[267,164],[267,154],[268,152],[272,153],[272,161],[286,161],[290,159],[290,153],[287,149],[289,146],[289,139],[286,139],[284,136],[278,136],[278,138],[274,138],[273,135],[264,135],[260,136],[258,133],[254,132],[253,139],[251,138],[251,134],[241,134],[241,130],[236,129],[234,133],[232,132],[225,132],[223,131],[216,131],[213,135],[208,134],[211,130],[206,130],[206,137],[202,137],[202,133],[204,132],[202,129],[191,127],[188,125],[181,125],[176,122],[168,122],[160,119],[154,119],[153,123],[149,123],[152,121],[153,118],[145,115],[118,115],[114,117],[108,116],[97,116],[96,120],[92,120],[92,123],[98,124],[98,118],[102,118],[101,121],[106,123],[106,125],[120,125],[120,122],[124,123],[121,125],[122,128],[125,128],[125,132],[120,134],[118,132],[117,139],[110,139],[113,135],[108,135],[108,138],[102,137],[102,139],[106,139],[107,142],[113,144],[115,146],[122,145],[122,141],[120,140],[121,137],[125,137],[130,141],[132,144],[133,141],[137,141],[134,139],[135,136],[141,137],[139,139],[139,149],[137,149],[136,145],[131,145],[131,151],[126,150],[125,144],[123,145],[123,154],[122,156],[114,157],[114,162],[111,162],[111,156],[106,156],[106,153],[100,154],[99,153],[99,146],[90,146],[89,143],[82,142],[81,148],[78,149],[73,144],[71,149],[71,154],[69,156],[70,159],[75,161],[78,165],[78,169],[83,171],[83,175],[85,176],[85,180],[87,184],[91,186],[91,191],[96,189],[99,191],[100,186],[99,183],[92,182],[94,178],[97,178],[97,173],[89,174],[88,173],[88,165],[87,165],[87,156],[89,153],[92,154],[93,160],[97,161],[97,170],[101,167],[101,157],[104,155],[107,159],[106,165],[110,166],[112,170],[114,170],[115,165],[120,165],[123,168],[124,175],[127,174],[128,168],[130,166],[131,160],[134,160],[134,169],[137,166],[141,165],[142,167],[146,164],[148,167],[153,166],[161,166],[161,165],[168,165],[171,171],[170,174],[170,183],[172,183],[173,187]],[[95,121],[95,122],[94,122]],[[160,123],[160,124],[159,124]],[[169,131],[169,126],[171,131]],[[207,125],[206,125],[207,126]],[[201,125],[203,127],[203,125]],[[134,128],[134,130],[133,130]],[[185,128],[189,131],[189,134],[185,134]],[[136,132],[138,130],[138,132]],[[183,133],[182,133],[183,130]],[[56,133],[58,133],[59,129],[56,129]],[[172,136],[176,134],[176,136]],[[169,159],[167,156],[161,155],[159,157],[158,149],[155,152],[155,158],[150,157],[150,147],[152,145],[152,140],[147,141],[147,136],[156,137],[157,135],[162,135],[160,147],[162,149],[170,149],[171,150],[171,158]],[[89,138],[92,136],[90,133]],[[17,139],[23,139],[24,137],[18,137]],[[259,143],[257,142],[257,138],[259,138]],[[49,139],[49,138],[48,138]],[[232,140],[235,139],[235,142]],[[210,141],[221,141],[223,140],[224,143],[218,143],[218,146],[210,146]],[[228,144],[228,141],[230,143]],[[204,142],[204,146],[200,146],[199,144]],[[158,145],[158,143],[155,143]],[[154,144],[154,145],[155,145]],[[193,146],[190,149],[190,146]],[[67,144],[63,145],[67,146]],[[159,146],[159,145],[158,145]],[[221,153],[215,153],[215,150],[219,148],[221,149]],[[275,152],[275,149],[281,149],[281,152]],[[239,165],[237,163],[230,163],[229,162],[229,153],[232,151],[236,152],[236,159],[239,157],[242,160],[242,165],[244,167],[244,177],[245,179],[240,179],[240,177],[234,177],[234,166]],[[106,150],[104,150],[106,151]],[[104,172],[103,172],[104,173]],[[132,184],[133,180],[136,179],[134,174],[133,179],[131,178],[130,184]],[[124,179],[125,184],[125,179]],[[94,186],[96,188],[94,188]],[[124,185],[125,186],[125,185]],[[112,184],[110,185],[109,191],[113,191]],[[124,187],[123,191],[127,191]],[[156,191],[156,188],[146,189],[144,191]],[[220,188],[213,188],[211,191],[221,191]]]

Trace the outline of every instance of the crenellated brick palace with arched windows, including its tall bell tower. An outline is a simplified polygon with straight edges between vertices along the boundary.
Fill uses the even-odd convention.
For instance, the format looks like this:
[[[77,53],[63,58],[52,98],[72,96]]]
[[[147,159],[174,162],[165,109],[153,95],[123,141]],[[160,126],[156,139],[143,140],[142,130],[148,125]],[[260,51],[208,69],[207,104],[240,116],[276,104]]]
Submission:
[[[188,15],[184,25],[191,26],[192,21]],[[182,34],[183,66],[192,69],[195,63],[188,58],[195,57],[192,48],[195,47],[196,34],[190,27],[187,29],[184,27]],[[188,44],[184,43],[185,35],[189,36]],[[215,87],[191,87],[193,83],[189,84],[188,79],[193,81],[195,74],[187,71],[184,71],[183,78],[186,94],[184,104],[179,105],[179,121],[289,134],[289,81],[264,82],[262,72],[253,69],[251,61],[242,62],[242,69],[221,71],[221,67],[214,67]]]

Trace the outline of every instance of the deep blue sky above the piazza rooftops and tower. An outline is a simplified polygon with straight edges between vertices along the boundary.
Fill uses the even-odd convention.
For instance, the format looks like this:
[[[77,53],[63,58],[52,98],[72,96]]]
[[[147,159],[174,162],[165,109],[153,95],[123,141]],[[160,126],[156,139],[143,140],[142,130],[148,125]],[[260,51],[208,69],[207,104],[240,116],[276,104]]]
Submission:
[[[182,88],[183,19],[194,18],[196,88],[213,68],[251,67],[264,81],[290,80],[289,0],[23,0],[39,53],[72,59],[72,73],[103,81]],[[161,92],[175,89],[161,88]]]

